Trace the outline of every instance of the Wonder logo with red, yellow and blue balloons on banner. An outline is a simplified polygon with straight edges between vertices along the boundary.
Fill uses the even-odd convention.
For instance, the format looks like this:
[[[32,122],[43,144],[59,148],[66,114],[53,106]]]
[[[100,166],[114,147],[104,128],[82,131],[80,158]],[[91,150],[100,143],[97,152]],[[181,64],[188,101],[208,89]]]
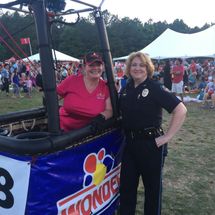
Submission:
[[[118,197],[120,165],[104,148],[87,155],[83,163],[83,189],[57,202],[58,214],[102,214]]]

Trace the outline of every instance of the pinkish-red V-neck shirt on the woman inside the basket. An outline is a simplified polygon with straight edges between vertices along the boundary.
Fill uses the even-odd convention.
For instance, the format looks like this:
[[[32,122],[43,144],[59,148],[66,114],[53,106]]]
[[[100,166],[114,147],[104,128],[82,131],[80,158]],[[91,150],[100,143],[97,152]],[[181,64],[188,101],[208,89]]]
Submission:
[[[89,93],[82,75],[67,77],[57,86],[57,93],[64,99],[60,108],[60,127],[64,131],[89,124],[92,118],[105,110],[109,97],[105,81],[100,79],[97,88]]]

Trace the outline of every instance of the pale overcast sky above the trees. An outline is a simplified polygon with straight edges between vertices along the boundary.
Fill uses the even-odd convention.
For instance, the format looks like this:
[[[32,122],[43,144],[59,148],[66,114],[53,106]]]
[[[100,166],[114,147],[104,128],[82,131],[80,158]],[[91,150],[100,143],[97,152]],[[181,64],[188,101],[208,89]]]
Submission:
[[[0,3],[13,0],[0,0]],[[98,6],[102,0],[83,0]],[[73,8],[75,3],[70,2]],[[140,21],[153,22],[167,21],[172,23],[175,19],[183,19],[189,27],[202,27],[205,23],[215,23],[215,0],[104,0],[102,10],[107,9],[110,13],[120,18],[128,16],[131,19],[137,17]]]

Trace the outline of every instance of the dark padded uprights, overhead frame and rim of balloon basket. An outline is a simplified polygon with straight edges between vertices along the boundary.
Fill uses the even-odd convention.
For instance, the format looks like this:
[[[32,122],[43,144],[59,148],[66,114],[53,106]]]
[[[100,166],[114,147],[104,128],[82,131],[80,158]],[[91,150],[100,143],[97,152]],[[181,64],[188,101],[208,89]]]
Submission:
[[[114,83],[114,75],[113,75],[113,63],[112,56],[110,52],[110,46],[108,41],[108,35],[106,31],[106,26],[104,24],[104,20],[102,17],[101,6],[104,1],[100,3],[99,6],[94,6],[89,3],[79,1],[79,0],[70,0],[75,3],[79,3],[85,6],[85,9],[75,10],[68,9],[66,11],[56,10],[50,11],[47,9],[47,3],[44,0],[17,0],[8,4],[0,4],[0,8],[6,8],[11,10],[16,10],[24,13],[32,13],[35,20],[36,31],[37,31],[37,40],[39,47],[39,54],[41,59],[41,70],[43,76],[43,85],[44,85],[44,99],[46,103],[46,107],[24,110],[15,113],[9,113],[0,115],[0,123],[1,127],[3,125],[10,125],[15,122],[18,124],[24,120],[31,121],[37,119],[38,117],[44,117],[47,123],[47,130],[45,131],[45,136],[43,132],[34,132],[34,130],[28,130],[26,132],[23,130],[23,134],[15,135],[15,136],[0,136],[0,148],[4,149],[4,151],[15,154],[23,154],[23,155],[35,155],[44,152],[53,152],[55,150],[63,149],[64,147],[68,147],[72,145],[77,140],[81,140],[82,138],[86,138],[87,136],[96,136],[97,134],[92,134],[90,126],[86,126],[82,129],[78,129],[76,131],[71,131],[68,133],[61,132],[59,128],[59,104],[56,93],[56,79],[54,72],[54,61],[51,53],[51,44],[49,39],[49,26],[48,26],[48,13],[53,12],[55,16],[63,16],[68,14],[77,14],[77,22],[79,20],[79,16],[84,12],[92,12],[95,17],[95,23],[97,26],[99,38],[100,38],[100,46],[105,62],[105,72],[107,77],[107,83],[110,90],[110,97],[113,106],[114,116],[107,120],[107,129],[116,128],[118,125],[118,111],[117,111],[117,92],[115,89]],[[64,2],[64,1],[62,1]],[[20,7],[15,7],[20,5]],[[28,8],[28,10],[24,8]],[[55,22],[55,19],[52,19],[52,22]],[[75,23],[66,23],[65,24],[75,24]],[[6,126],[5,126],[6,127]],[[11,131],[10,131],[11,132]],[[20,130],[18,131],[20,132]],[[100,133],[102,131],[99,131]],[[36,133],[36,137],[35,137]],[[41,133],[42,138],[45,140],[43,146],[40,147],[41,144],[33,144],[32,142],[37,142],[37,139],[40,138],[39,135]],[[19,133],[18,133],[19,134]],[[32,135],[32,138],[31,138]],[[26,137],[25,137],[26,136]],[[20,148],[19,142],[21,139],[22,147]],[[51,139],[51,141],[50,141]],[[37,147],[35,147],[37,145]],[[19,146],[19,147],[17,147]]]

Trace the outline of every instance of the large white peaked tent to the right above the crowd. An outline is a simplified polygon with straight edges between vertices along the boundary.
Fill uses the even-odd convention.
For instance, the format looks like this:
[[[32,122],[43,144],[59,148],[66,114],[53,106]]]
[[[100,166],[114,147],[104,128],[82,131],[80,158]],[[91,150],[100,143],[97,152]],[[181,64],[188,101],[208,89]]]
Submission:
[[[215,25],[193,34],[167,29],[140,51],[154,59],[215,57]],[[114,60],[123,60],[127,57],[114,58]]]

